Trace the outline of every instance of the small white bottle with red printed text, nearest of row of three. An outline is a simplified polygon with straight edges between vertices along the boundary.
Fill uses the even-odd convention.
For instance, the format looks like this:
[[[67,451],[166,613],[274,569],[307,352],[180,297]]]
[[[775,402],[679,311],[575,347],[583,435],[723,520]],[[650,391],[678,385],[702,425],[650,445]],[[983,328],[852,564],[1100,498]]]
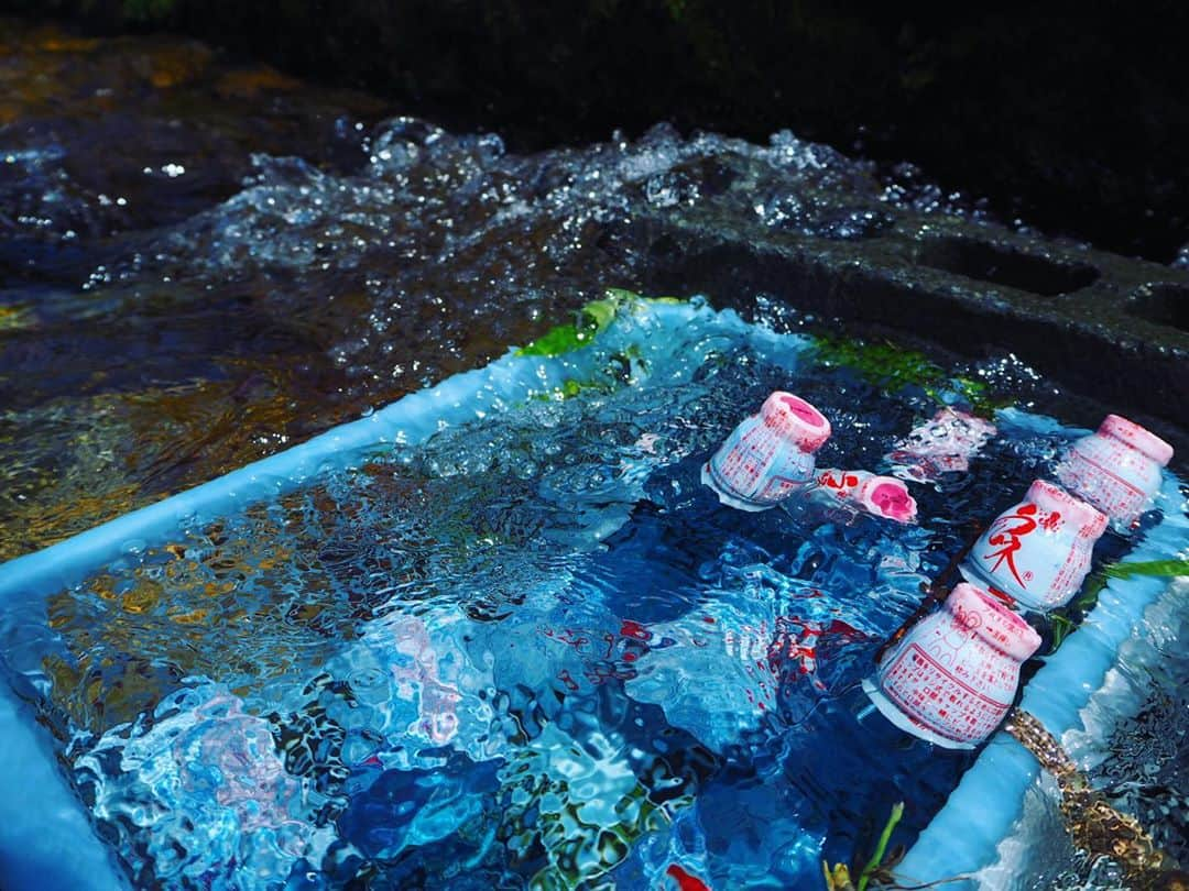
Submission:
[[[901,729],[945,748],[974,748],[1004,720],[1020,665],[1039,646],[1024,619],[963,582],[883,656],[863,689]]]

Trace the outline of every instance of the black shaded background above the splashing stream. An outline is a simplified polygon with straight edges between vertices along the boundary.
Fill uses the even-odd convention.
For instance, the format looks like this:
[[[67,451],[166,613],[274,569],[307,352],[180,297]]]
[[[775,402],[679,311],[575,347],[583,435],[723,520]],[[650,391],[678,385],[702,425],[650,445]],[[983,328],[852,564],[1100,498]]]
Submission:
[[[170,30],[533,150],[668,120],[788,127],[1159,261],[1189,241],[1189,5],[917,13],[826,0],[0,0]]]

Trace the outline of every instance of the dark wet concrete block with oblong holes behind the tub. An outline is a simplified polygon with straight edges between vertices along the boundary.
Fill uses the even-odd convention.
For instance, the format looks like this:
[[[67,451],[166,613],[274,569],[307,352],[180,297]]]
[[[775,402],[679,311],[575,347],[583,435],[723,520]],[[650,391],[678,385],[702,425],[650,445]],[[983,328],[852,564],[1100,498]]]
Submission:
[[[726,307],[765,293],[971,360],[1013,353],[1144,424],[1176,448],[1175,467],[1189,466],[1189,270],[912,214],[850,241],[724,228],[697,213],[656,213],[642,230],[653,292]]]

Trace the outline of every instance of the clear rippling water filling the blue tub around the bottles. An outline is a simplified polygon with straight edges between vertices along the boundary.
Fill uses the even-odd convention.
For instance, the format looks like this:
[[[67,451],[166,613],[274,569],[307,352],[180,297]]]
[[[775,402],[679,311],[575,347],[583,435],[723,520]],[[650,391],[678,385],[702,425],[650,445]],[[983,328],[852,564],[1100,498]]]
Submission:
[[[643,320],[643,321],[641,321]],[[4,650],[138,886],[810,887],[969,756],[860,718],[881,640],[1064,441],[914,486],[919,526],[723,507],[698,468],[773,388],[879,468],[936,404],[691,324],[144,548]],[[633,343],[647,343],[641,350]]]

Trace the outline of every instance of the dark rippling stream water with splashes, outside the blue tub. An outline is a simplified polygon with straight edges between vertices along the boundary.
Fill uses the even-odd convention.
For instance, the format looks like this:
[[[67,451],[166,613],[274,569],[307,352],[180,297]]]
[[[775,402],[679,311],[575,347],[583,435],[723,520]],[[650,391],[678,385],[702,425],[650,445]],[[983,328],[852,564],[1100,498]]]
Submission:
[[[7,23],[0,557],[476,367],[649,257],[642,210],[856,238],[936,189],[780,133],[520,157],[187,43]]]

